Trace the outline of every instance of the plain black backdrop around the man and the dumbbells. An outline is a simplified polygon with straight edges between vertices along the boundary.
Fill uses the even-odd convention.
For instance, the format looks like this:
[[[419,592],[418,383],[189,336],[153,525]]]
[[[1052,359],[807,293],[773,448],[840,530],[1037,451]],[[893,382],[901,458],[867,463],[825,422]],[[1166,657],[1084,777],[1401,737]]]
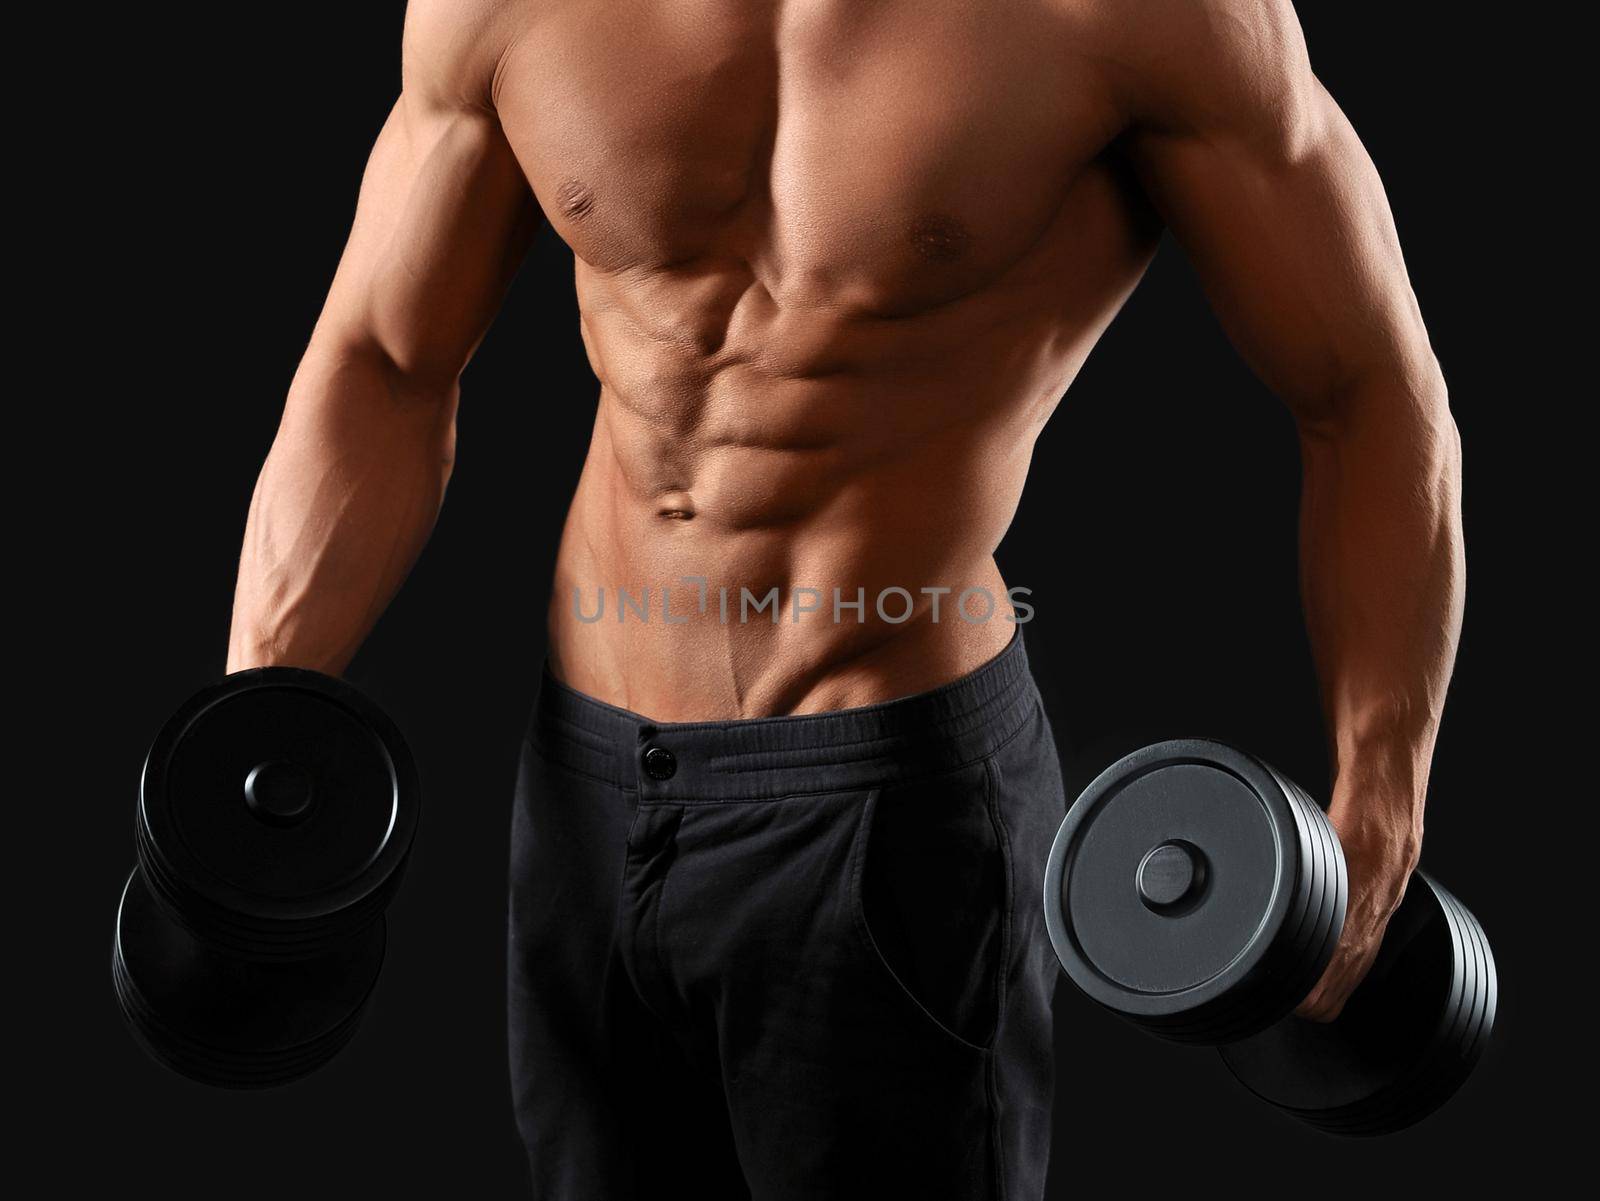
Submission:
[[[338,13],[338,19],[330,13]],[[1389,187],[1451,384],[1466,454],[1469,603],[1434,768],[1424,864],[1488,929],[1502,1020],[1469,1087],[1421,1127],[1336,1142],[1259,1107],[1214,1054],[1158,1044],[1059,1001],[1051,1198],[1130,1177],[1246,1195],[1480,1182],[1486,1156],[1549,1145],[1562,1078],[1542,857],[1560,846],[1526,590],[1528,272],[1520,138],[1538,64],[1440,6],[1306,6],[1318,75]],[[203,16],[200,16],[203,13]],[[282,397],[331,278],[366,147],[398,88],[400,3],[285,2],[123,14],[98,102],[82,253],[56,280],[82,331],[53,365],[58,470],[38,494],[64,584],[58,617],[93,692],[53,760],[40,1025],[56,1163],[166,1196],[518,1196],[504,1038],[504,868],[515,745],[544,646],[557,533],[597,385],[571,256],[546,230],[464,384],[458,472],[432,544],[349,675],[408,732],[427,785],[390,916],[384,980],[355,1043],[309,1081],[221,1094],[128,1039],[107,956],[133,862],[149,739],[219,675],[238,537]],[[66,122],[67,117],[62,117]],[[1158,737],[1234,739],[1314,792],[1326,761],[1294,574],[1293,427],[1229,349],[1181,253],[1149,278],[1045,432],[1000,563],[1034,589],[1035,670],[1069,793]],[[70,673],[67,673],[70,678]],[[1515,732],[1514,732],[1515,731]],[[1539,758],[1539,763],[1546,760]],[[70,780],[62,787],[61,780]],[[1590,790],[1592,792],[1592,790]],[[16,848],[13,848],[16,854]],[[48,859],[54,859],[50,856]],[[61,857],[67,862],[67,856]],[[1142,1191],[1142,1190],[1141,1190]]]

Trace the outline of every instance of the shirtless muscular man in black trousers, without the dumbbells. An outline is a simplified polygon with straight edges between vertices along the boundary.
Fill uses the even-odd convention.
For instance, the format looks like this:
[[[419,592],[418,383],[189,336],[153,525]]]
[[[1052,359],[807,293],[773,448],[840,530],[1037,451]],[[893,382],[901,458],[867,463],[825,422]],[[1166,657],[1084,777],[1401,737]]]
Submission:
[[[542,214],[602,387],[514,819],[538,1196],[1040,1195],[1062,795],[992,555],[1163,225],[1301,430],[1334,1015],[1418,856],[1459,449],[1288,0],[413,0],[403,61],[229,665],[354,654]]]

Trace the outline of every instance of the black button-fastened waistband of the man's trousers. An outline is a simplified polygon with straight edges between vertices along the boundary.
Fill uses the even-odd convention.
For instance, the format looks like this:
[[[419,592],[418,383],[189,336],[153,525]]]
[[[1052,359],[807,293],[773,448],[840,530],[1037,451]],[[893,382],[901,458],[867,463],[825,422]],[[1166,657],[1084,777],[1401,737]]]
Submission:
[[[933,776],[987,758],[1038,704],[1022,632],[958,680],[861,708],[738,721],[651,721],[544,668],[528,739],[544,758],[640,800],[771,800]]]

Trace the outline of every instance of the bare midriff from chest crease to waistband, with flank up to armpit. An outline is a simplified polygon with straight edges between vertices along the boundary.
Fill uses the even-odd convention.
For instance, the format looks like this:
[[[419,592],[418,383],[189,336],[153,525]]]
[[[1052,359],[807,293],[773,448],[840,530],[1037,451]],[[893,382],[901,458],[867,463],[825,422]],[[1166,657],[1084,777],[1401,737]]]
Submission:
[[[1034,441],[1152,251],[1090,173],[1027,254],[942,294],[726,249],[579,257],[602,390],[550,670],[710,721],[875,704],[994,659],[1018,628],[994,552]]]

